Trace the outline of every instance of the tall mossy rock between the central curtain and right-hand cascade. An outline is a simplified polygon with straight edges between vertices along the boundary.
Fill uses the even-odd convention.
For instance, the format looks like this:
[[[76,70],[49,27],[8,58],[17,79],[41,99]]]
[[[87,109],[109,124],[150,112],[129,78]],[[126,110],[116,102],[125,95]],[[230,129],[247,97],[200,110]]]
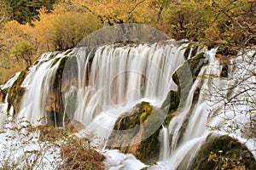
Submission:
[[[187,50],[190,51],[192,46],[189,45],[188,48]],[[187,50],[186,53],[188,53]],[[193,53],[195,53],[195,51]],[[190,89],[195,82],[196,77],[198,77],[201,67],[204,65],[207,65],[207,57],[205,54],[196,54],[195,57],[187,59],[183,65],[181,65],[177,71],[173,73],[172,81],[177,84],[177,91],[171,90],[161,105],[161,108],[167,113],[165,120],[166,125],[169,124],[172,116],[176,115],[177,109],[183,108],[183,106],[186,104]],[[193,104],[195,104],[199,99],[199,94],[200,88],[197,88],[193,96]]]

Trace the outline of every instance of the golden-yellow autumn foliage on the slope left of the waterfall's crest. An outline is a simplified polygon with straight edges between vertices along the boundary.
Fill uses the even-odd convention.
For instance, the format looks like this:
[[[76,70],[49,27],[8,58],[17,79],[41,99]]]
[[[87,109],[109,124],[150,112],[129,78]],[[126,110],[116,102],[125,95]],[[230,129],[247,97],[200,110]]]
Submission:
[[[15,71],[26,66],[25,63],[16,62],[14,58],[14,49],[19,48],[20,43],[31,44],[33,54],[29,57],[36,59],[47,51],[73,48],[82,38],[102,26],[96,16],[84,12],[81,6],[60,3],[54,8],[51,13],[46,8],[39,9],[40,20],[33,20],[32,26],[20,25],[15,20],[3,24],[0,30],[0,73],[4,74],[0,74],[0,82],[5,82]],[[57,43],[61,44],[61,47]]]

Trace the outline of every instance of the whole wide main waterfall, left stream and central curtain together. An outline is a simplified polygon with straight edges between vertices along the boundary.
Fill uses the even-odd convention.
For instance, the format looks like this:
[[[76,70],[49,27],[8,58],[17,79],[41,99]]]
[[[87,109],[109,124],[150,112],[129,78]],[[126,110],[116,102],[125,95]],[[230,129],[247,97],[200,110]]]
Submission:
[[[143,100],[160,107],[166,94],[177,90],[172,74],[183,65],[187,46],[175,41],[113,44],[43,54],[20,85],[26,93],[18,118],[64,127],[68,116],[106,139],[121,113]],[[55,84],[61,85],[60,96],[55,95]],[[62,103],[56,105],[57,100]]]

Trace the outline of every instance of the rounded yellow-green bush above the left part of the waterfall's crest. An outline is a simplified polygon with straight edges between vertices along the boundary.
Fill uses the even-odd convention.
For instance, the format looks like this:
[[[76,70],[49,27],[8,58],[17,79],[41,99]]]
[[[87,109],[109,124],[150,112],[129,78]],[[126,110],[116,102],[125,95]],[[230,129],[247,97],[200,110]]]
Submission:
[[[67,12],[56,16],[49,25],[49,38],[52,44],[58,45],[55,48],[73,48],[81,39],[100,27],[100,21],[91,14]]]

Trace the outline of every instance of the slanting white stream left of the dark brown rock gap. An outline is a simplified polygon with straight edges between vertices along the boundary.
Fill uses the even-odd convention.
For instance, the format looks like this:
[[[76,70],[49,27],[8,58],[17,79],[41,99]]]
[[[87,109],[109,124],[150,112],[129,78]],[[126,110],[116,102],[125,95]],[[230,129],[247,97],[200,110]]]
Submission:
[[[42,118],[46,116],[44,110],[47,103],[46,99],[53,84],[55,71],[57,71],[63,57],[65,55],[47,53],[38,59],[38,64],[32,66],[21,84],[21,87],[26,89],[26,94],[22,98],[18,117],[25,118],[33,124],[42,121],[45,123]]]

